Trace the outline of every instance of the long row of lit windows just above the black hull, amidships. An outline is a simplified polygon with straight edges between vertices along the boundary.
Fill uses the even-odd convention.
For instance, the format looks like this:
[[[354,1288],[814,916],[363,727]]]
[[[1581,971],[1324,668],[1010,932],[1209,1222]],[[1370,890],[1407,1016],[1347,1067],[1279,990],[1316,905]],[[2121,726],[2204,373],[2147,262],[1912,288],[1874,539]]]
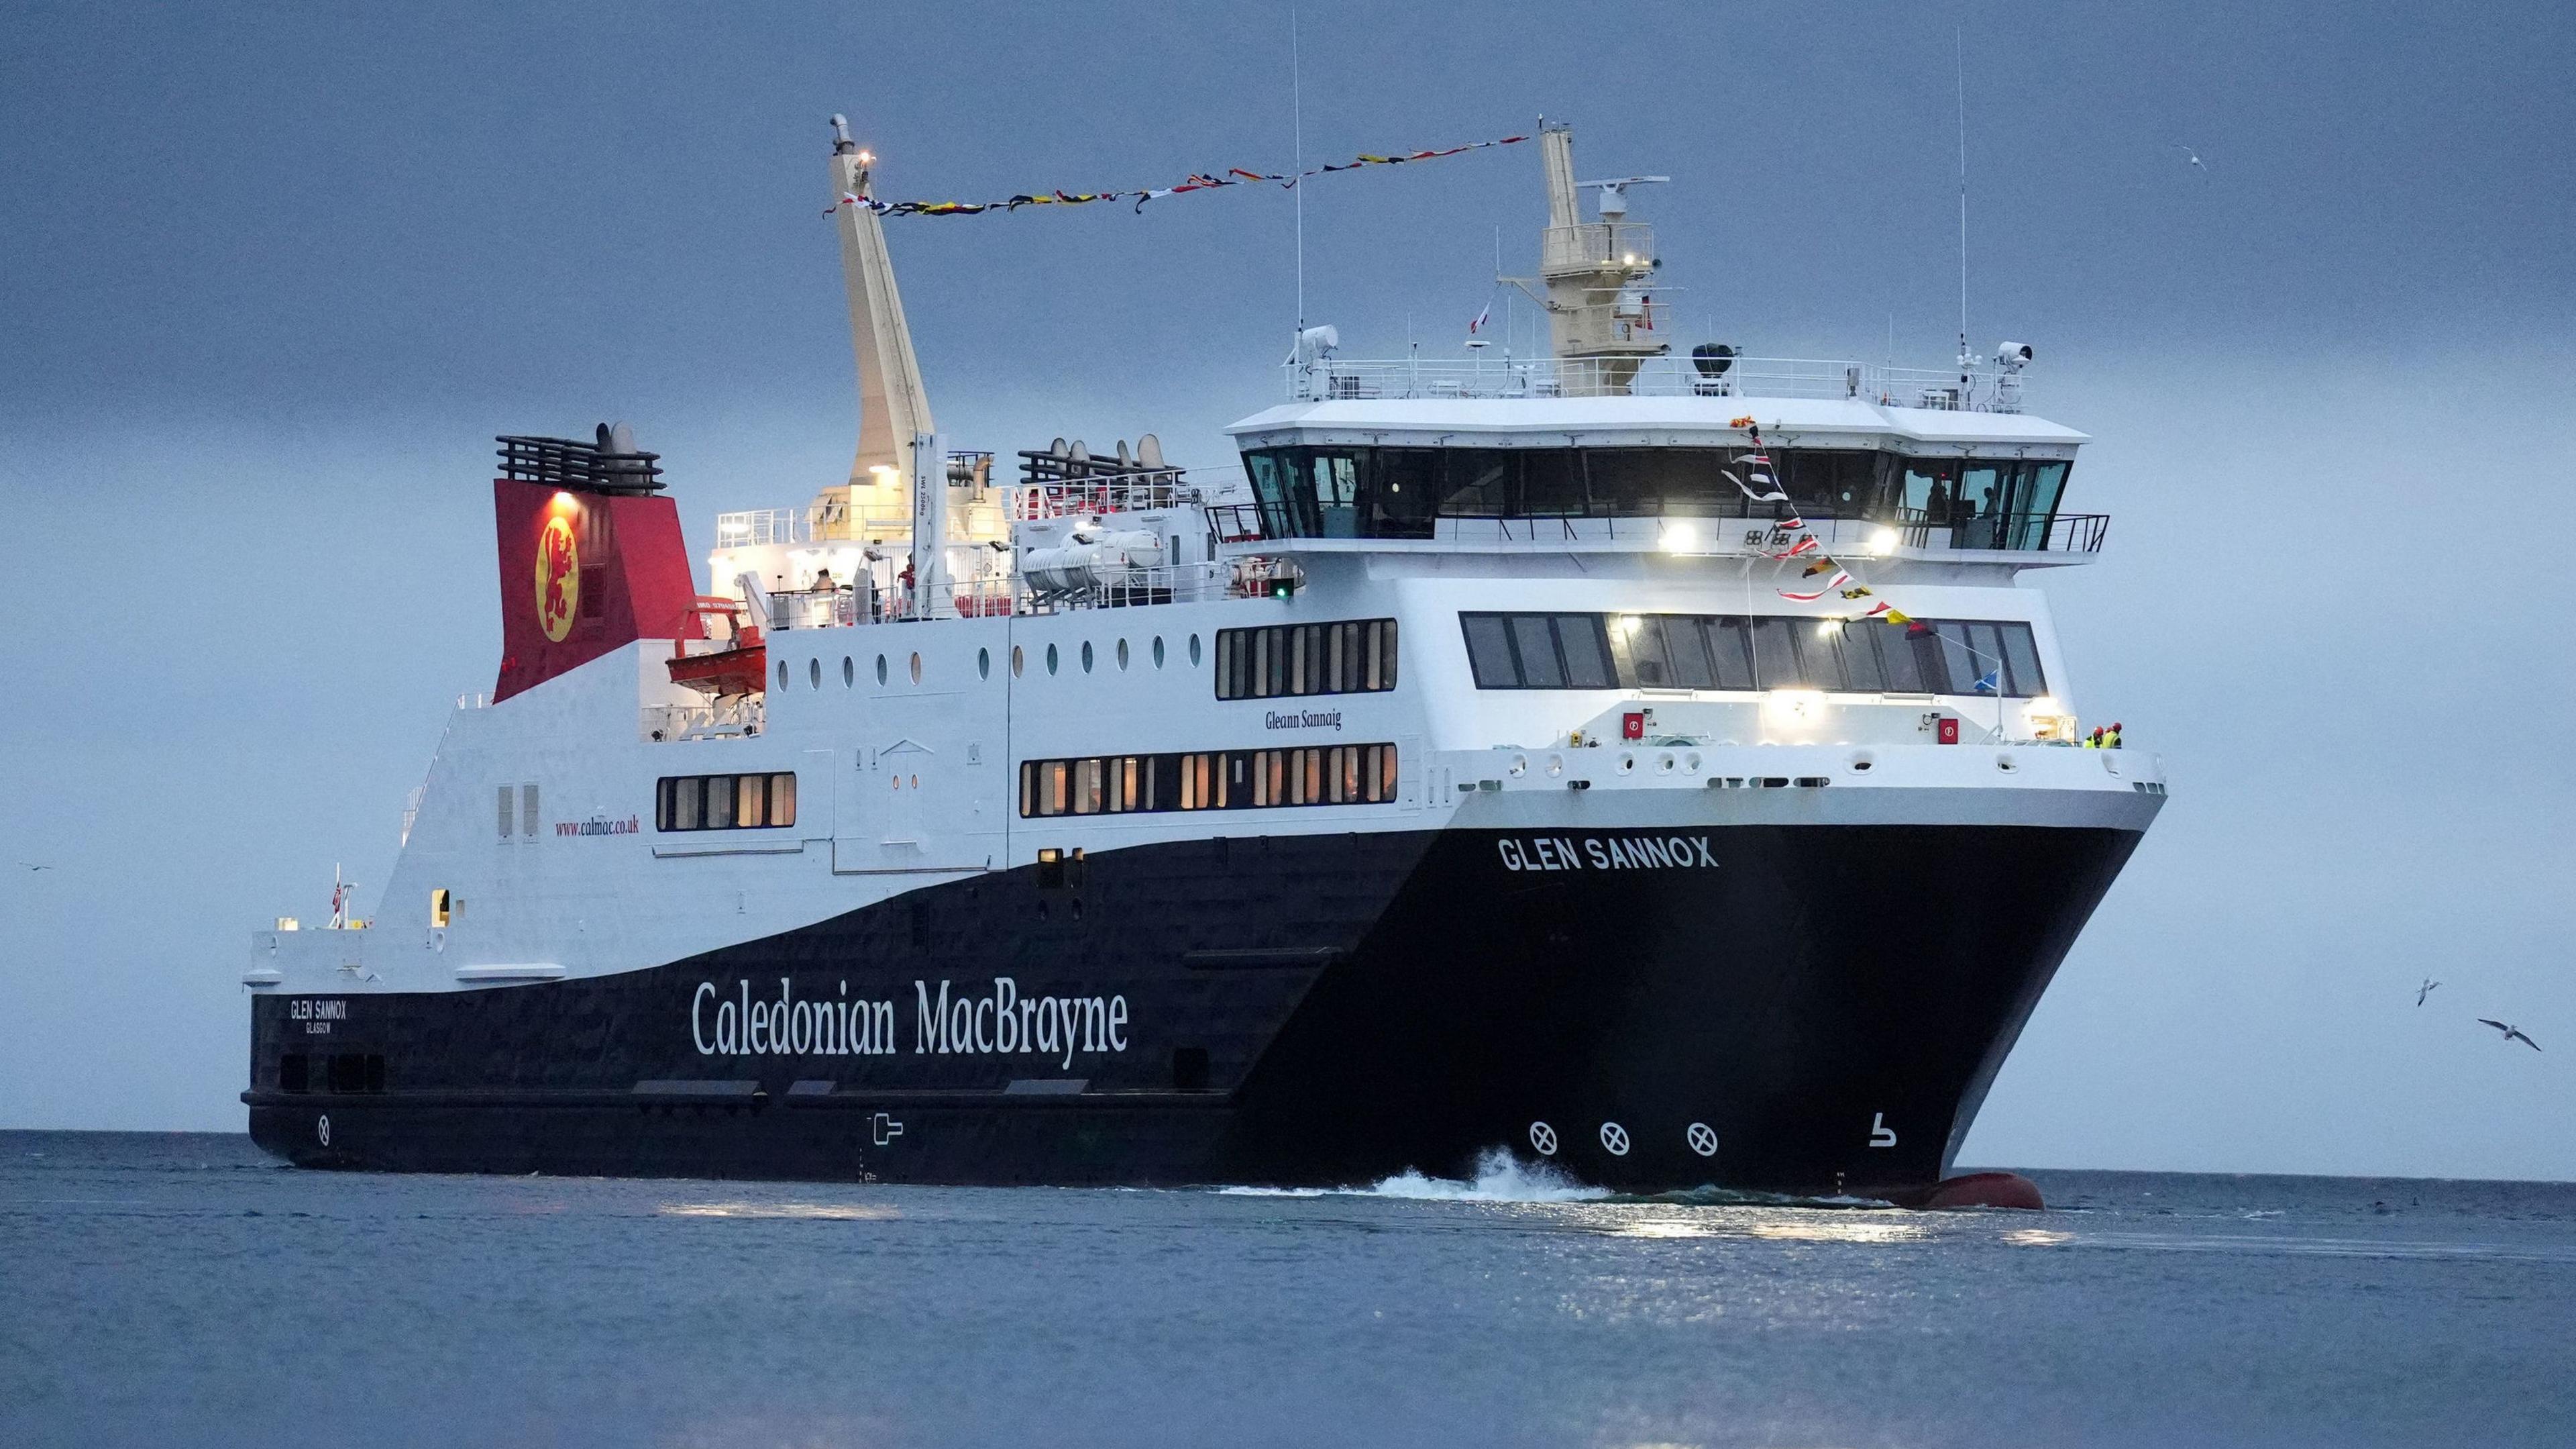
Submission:
[[[1381,804],[1396,799],[1394,745],[1303,750],[1200,750],[1023,761],[1020,815],[1139,815],[1265,810],[1275,804]]]

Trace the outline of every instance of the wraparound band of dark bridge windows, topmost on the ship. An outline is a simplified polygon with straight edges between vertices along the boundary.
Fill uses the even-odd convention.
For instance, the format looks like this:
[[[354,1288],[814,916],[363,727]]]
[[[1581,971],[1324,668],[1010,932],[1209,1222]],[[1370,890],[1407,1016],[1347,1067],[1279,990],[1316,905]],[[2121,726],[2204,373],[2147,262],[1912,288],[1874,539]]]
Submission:
[[[1744,449],[1255,449],[1244,472],[1273,539],[1430,539],[1435,518],[1883,518],[2038,549],[2066,462],[1772,449],[1785,505],[1752,503]]]

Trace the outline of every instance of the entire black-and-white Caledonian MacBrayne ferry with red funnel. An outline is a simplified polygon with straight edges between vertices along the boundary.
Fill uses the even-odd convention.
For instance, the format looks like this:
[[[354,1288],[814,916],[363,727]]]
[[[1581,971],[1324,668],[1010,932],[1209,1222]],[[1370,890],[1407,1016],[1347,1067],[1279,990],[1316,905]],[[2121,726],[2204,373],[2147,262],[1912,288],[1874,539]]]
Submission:
[[[951,449],[835,119],[850,477],[693,554],[626,428],[500,441],[497,678],[376,915],[252,936],[252,1137],[1935,1191],[2164,804],[2020,585],[2102,549],[2084,436],[2025,345],[1674,351],[1641,178],[1538,142],[1546,353],[1306,327],[1203,482],[1151,436]]]

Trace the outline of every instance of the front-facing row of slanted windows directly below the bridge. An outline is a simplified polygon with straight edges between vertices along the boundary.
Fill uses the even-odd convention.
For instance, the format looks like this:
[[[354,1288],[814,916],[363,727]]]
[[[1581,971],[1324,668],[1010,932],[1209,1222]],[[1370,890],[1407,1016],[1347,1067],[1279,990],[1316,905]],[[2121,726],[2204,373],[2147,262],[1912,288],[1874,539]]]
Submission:
[[[2048,694],[2030,624],[1705,614],[1461,614],[1476,688]]]

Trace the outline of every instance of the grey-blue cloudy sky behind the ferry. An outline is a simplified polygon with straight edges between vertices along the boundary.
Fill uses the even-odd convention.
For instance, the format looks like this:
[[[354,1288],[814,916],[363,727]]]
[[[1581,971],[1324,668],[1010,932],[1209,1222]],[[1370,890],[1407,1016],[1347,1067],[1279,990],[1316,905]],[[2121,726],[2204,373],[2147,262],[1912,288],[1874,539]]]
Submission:
[[[1968,1155],[2576,1176],[2561,8],[1301,13],[1309,160],[1564,116],[1584,175],[1674,175],[1638,214],[1682,340],[1919,364],[1965,15],[1973,340],[2038,348],[2115,516],[2040,585],[2084,712],[2174,771]],[[827,113],[889,196],[1291,155],[1285,8],[711,15],[13,13],[0,861],[57,869],[0,877],[0,1124],[240,1124],[247,931],[384,879],[489,686],[492,433],[631,420],[701,541],[848,467]],[[1306,315],[1448,353],[1538,222],[1535,147],[1316,183]],[[956,443],[1224,464],[1275,394],[1280,193],[889,235]]]

